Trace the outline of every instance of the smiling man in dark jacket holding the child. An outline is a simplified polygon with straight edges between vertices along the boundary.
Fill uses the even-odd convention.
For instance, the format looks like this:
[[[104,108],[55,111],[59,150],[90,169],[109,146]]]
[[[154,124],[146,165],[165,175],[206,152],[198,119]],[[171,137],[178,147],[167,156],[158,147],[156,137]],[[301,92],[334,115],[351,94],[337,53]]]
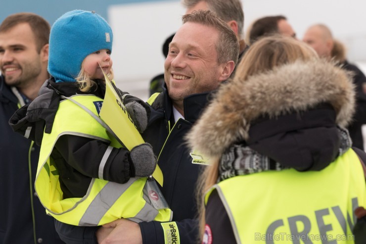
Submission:
[[[173,221],[137,224],[116,220],[98,230],[99,243],[191,244],[198,240],[195,189],[199,171],[206,165],[195,160],[196,152],[188,150],[184,136],[211,92],[229,78],[238,52],[234,32],[212,12],[200,10],[183,16],[183,25],[175,34],[164,63],[165,89],[149,99],[154,111],[142,135],[159,155],[158,165],[164,176],[161,192],[173,210]],[[71,237],[73,231],[75,228],[64,233]]]

